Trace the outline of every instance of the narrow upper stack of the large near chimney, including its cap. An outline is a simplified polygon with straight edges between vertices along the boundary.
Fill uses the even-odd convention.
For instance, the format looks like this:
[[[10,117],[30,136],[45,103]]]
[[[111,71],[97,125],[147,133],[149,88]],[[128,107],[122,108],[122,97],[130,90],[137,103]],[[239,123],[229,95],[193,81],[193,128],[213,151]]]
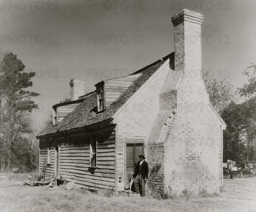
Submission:
[[[188,76],[191,70],[201,70],[201,24],[204,16],[181,10],[172,17],[174,26],[175,71]],[[194,72],[194,71],[193,71]],[[200,72],[198,72],[200,76]]]

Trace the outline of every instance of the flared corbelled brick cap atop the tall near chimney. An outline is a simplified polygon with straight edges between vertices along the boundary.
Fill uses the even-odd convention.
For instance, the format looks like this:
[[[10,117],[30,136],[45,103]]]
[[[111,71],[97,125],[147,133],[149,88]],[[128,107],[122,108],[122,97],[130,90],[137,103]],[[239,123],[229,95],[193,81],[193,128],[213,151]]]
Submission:
[[[174,16],[172,16],[172,24],[174,26],[177,26],[185,20],[201,25],[204,20],[204,15],[202,15],[199,12],[190,11],[188,9],[182,9],[180,10],[180,12],[177,12]]]

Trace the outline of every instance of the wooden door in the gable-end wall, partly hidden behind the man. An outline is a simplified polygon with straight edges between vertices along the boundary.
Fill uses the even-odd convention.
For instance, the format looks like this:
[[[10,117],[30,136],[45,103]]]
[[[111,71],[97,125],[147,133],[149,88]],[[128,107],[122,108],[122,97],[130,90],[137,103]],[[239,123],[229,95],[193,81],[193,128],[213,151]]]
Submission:
[[[139,155],[144,152],[143,149],[143,144],[126,144],[125,189],[129,188],[131,173],[140,160]]]

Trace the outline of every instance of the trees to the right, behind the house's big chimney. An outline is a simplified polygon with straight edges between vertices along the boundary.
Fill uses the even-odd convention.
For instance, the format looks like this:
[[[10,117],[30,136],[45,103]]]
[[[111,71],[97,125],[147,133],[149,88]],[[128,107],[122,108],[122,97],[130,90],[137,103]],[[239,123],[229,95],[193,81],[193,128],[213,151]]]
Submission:
[[[256,163],[256,65],[252,63],[247,69],[242,72],[247,82],[235,92],[233,84],[225,79],[204,77],[210,102],[227,124],[223,132],[223,162],[233,160],[240,166]]]

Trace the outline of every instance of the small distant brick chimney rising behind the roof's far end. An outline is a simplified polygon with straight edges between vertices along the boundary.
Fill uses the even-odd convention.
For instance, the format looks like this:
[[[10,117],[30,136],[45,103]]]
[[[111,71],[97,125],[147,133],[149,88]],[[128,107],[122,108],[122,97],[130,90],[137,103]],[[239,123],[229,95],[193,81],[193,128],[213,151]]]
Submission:
[[[85,85],[86,85],[86,82],[83,79],[71,79],[70,81],[71,101],[77,100],[79,96],[83,96],[85,94]]]

